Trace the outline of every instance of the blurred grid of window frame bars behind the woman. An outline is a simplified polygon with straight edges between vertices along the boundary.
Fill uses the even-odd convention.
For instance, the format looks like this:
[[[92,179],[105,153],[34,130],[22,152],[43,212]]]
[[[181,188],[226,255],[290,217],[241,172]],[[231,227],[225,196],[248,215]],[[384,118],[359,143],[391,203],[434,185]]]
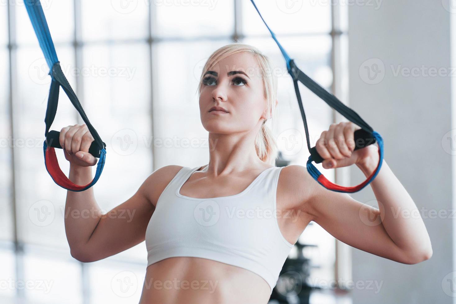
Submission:
[[[75,54],[75,66],[80,67],[83,62],[83,46],[88,43],[109,43],[109,44],[116,44],[116,41],[112,40],[107,40],[107,41],[97,41],[97,42],[86,42],[83,41],[82,38],[82,15],[81,15],[81,1],[80,0],[73,0],[73,5],[74,5],[74,35],[73,35],[73,41],[72,41],[72,46],[73,46],[73,51]],[[242,30],[242,5],[241,5],[241,0],[233,0],[233,5],[234,5],[234,27],[232,34],[229,36],[221,36],[221,37],[193,37],[191,38],[191,41],[199,41],[199,40],[225,40],[225,39],[230,39],[231,41],[239,41],[243,38],[246,37],[267,37],[269,35],[248,35],[245,36],[243,34]],[[15,121],[14,121],[14,115],[13,115],[13,110],[14,110],[14,105],[13,101],[15,100],[15,94],[16,94],[16,81],[17,81],[17,61],[16,61],[16,52],[17,52],[17,43],[16,43],[16,20],[15,20],[15,10],[16,9],[24,9],[23,7],[17,7],[17,5],[14,5],[11,3],[11,1],[7,1],[7,25],[8,25],[8,56],[9,56],[9,66],[8,66],[8,75],[9,75],[9,82],[8,82],[8,87],[7,89],[9,90],[8,94],[8,99],[6,103],[9,106],[9,119],[10,119],[10,130],[11,130],[11,136],[14,138],[14,133],[15,133]],[[342,7],[341,5],[331,5],[331,17],[332,17],[332,30],[330,33],[327,33],[327,35],[331,36],[332,39],[332,49],[331,49],[331,68],[332,68],[332,75],[333,75],[333,81],[332,81],[332,92],[334,95],[338,96],[339,99],[344,102],[346,105],[348,105],[347,101],[347,90],[348,86],[341,85],[342,79],[348,79],[348,67],[347,67],[347,45],[343,43],[342,38],[344,35],[347,35],[347,29],[343,28],[343,22],[341,20],[342,16],[342,10],[347,10],[347,7]],[[153,75],[153,60],[154,60],[154,54],[153,54],[153,46],[156,43],[160,43],[163,41],[189,41],[188,39],[185,39],[183,37],[157,37],[153,34],[153,28],[152,25],[154,24],[153,20],[155,20],[154,15],[156,14],[154,10],[154,5],[149,5],[149,12],[148,12],[148,36],[145,37],[143,40],[144,43],[148,44],[149,47],[149,56],[150,60],[148,61],[149,63],[149,75],[150,79],[152,80],[154,75]],[[345,14],[346,15],[346,14]],[[306,35],[313,35],[312,33],[310,34],[302,34],[302,36]],[[287,36],[287,35],[281,35],[281,36]],[[296,34],[291,34],[290,36],[296,36]],[[301,36],[301,35],[300,35]],[[269,36],[270,37],[270,36]],[[271,38],[272,39],[272,38]],[[135,41],[132,41],[135,42]],[[125,43],[125,41],[119,41],[119,43]],[[345,54],[345,56],[343,55]],[[152,91],[154,90],[153,88],[153,81],[150,81],[150,117],[152,117],[152,109],[153,109],[153,103],[154,103],[154,95],[152,94]],[[75,86],[75,92],[78,96],[83,96],[83,79],[81,77],[76,77],[76,86]],[[83,100],[81,101],[83,104]],[[341,117],[339,114],[337,114],[336,111],[332,110],[332,121],[337,123],[341,121],[345,121],[344,117]],[[83,123],[82,118],[78,116],[78,123]],[[150,127],[152,129],[152,126]],[[152,136],[154,135],[153,129],[151,132]],[[155,168],[155,163],[157,163],[157,160],[155,159],[156,153],[154,152],[154,145],[151,146],[151,153],[152,153],[152,168],[150,168],[152,171],[157,169]],[[11,217],[13,219],[13,229],[12,229],[12,242],[10,241],[0,241],[0,248],[4,248],[8,250],[8,248],[13,248],[14,254],[15,254],[15,269],[16,269],[16,278],[23,278],[24,277],[24,260],[23,256],[26,251],[24,248],[29,248],[29,246],[25,243],[22,243],[18,239],[18,220],[17,220],[17,210],[18,206],[16,205],[16,182],[15,180],[18,178],[15,175],[15,149],[13,147],[10,148],[10,153],[11,153],[11,163],[10,163],[10,184],[9,187],[11,189],[11,196],[10,196],[10,203],[11,206]],[[339,184],[344,184],[344,183],[349,183],[350,178],[349,178],[349,169],[348,168],[337,168],[335,170],[335,182]],[[33,246],[31,246],[33,247]],[[52,250],[52,248],[50,248]],[[35,252],[33,249],[31,249],[31,252]],[[56,254],[62,254],[59,253],[58,250],[56,250]],[[65,257],[62,257],[65,258]],[[336,239],[336,264],[335,264],[335,278],[337,282],[337,278],[343,278],[347,282],[348,280],[351,279],[351,250],[348,245],[338,241]],[[86,263],[80,263],[81,266],[81,272],[82,272],[82,280],[83,280],[83,289],[81,292],[83,293],[83,303],[90,303],[90,294],[89,294],[89,286],[88,282],[90,282],[88,278],[88,264]],[[339,286],[340,288],[344,288],[344,286]],[[24,289],[16,289],[16,297],[24,297],[25,292]]]

